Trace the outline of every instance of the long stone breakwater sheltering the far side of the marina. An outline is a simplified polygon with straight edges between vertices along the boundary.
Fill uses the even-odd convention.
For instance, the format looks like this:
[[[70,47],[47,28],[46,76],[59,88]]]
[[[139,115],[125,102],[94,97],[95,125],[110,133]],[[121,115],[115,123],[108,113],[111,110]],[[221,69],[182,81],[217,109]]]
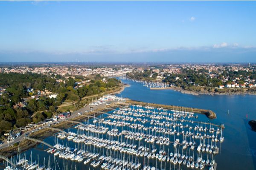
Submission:
[[[216,113],[214,113],[211,110],[206,110],[206,109],[188,108],[188,107],[174,106],[174,105],[162,105],[162,104],[155,104],[155,103],[145,103],[145,102],[140,102],[140,101],[135,101],[135,100],[127,100],[126,103],[129,103],[131,105],[143,105],[143,106],[149,105],[152,107],[165,108],[165,109],[169,109],[169,110],[189,111],[189,112],[204,114],[209,119],[217,118]]]

